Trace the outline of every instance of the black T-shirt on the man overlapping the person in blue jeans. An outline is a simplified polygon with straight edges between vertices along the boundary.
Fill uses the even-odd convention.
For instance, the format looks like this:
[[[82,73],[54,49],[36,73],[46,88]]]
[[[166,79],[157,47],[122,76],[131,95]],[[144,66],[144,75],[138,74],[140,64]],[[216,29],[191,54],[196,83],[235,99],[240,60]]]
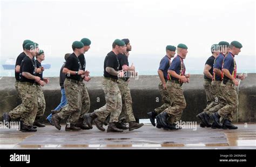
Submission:
[[[70,54],[70,56],[66,60],[66,64],[65,64],[64,67],[68,68],[71,71],[79,71],[80,69],[82,69],[80,61],[77,58],[75,53]],[[81,76],[80,75],[66,74],[66,78],[79,81]]]

